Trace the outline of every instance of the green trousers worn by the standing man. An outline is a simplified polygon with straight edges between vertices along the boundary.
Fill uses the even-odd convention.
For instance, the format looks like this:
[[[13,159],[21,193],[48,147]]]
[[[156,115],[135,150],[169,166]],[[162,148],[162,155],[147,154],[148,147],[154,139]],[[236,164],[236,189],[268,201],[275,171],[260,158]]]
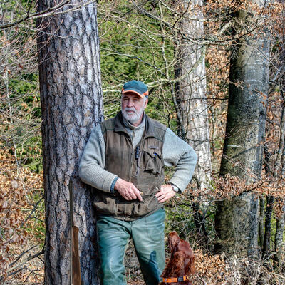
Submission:
[[[165,210],[125,222],[109,216],[97,219],[102,285],[126,285],[124,256],[130,239],[140,261],[145,284],[157,285],[165,268]]]

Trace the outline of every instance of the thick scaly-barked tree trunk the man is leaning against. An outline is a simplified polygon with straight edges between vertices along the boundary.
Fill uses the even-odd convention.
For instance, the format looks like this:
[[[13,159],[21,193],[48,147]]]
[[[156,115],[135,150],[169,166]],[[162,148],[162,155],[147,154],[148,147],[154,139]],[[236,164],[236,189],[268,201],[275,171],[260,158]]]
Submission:
[[[71,279],[68,183],[74,187],[73,224],[79,228],[82,284],[98,284],[92,193],[78,177],[91,128],[103,120],[96,6],[69,1],[62,14],[38,21],[43,175],[46,200],[45,284]],[[39,0],[38,11],[58,1]]]

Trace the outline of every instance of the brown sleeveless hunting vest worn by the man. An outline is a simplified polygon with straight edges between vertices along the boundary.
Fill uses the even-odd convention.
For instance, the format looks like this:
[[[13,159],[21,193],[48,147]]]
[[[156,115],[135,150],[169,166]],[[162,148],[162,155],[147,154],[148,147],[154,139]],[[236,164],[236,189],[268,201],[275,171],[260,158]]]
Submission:
[[[145,130],[135,147],[125,129],[121,112],[101,123],[101,130],[105,140],[105,170],[132,182],[142,192],[143,201],[127,201],[116,190],[114,193],[96,190],[96,212],[132,221],[160,209],[162,204],[155,193],[165,178],[162,157],[165,125],[145,115]]]

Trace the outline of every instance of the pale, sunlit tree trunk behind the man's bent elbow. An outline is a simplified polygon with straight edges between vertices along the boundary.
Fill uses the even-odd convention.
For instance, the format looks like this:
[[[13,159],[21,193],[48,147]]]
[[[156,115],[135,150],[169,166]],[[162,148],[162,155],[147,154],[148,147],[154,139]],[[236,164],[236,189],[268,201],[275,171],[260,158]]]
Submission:
[[[182,4],[182,5],[181,5]],[[177,1],[187,11],[180,21],[182,33],[190,38],[204,36],[203,1]],[[177,100],[178,133],[197,152],[195,177],[200,187],[207,188],[211,180],[211,152],[206,98],[205,47],[181,38],[177,45],[175,84]]]

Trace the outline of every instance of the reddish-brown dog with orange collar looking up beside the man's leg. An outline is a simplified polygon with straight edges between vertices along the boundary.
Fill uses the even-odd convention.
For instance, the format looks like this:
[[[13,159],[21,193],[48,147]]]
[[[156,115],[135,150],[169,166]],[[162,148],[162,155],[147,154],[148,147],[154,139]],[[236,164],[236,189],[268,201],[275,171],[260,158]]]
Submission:
[[[161,274],[163,281],[159,285],[191,285],[186,279],[186,275],[195,274],[195,257],[190,244],[180,239],[177,232],[170,232],[168,242],[171,257]]]

